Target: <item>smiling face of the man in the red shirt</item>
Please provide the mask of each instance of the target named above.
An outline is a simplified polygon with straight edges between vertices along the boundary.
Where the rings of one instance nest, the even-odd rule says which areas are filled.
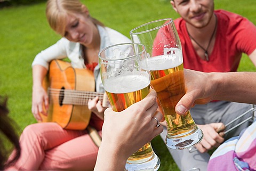
[[[190,25],[203,28],[213,15],[213,0],[173,0],[173,9]]]

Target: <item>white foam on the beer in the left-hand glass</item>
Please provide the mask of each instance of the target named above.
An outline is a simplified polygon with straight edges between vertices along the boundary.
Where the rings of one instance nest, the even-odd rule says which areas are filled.
[[[104,80],[104,89],[109,93],[130,93],[147,87],[150,84],[148,72],[124,74]]]

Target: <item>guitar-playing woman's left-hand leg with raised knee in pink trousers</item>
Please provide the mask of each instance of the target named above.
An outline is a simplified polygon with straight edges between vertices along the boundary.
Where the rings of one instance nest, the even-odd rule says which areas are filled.
[[[84,131],[62,129],[57,123],[28,125],[21,134],[21,156],[14,167],[18,170],[37,170],[45,158],[45,151],[83,134]],[[10,169],[13,170],[13,167]]]

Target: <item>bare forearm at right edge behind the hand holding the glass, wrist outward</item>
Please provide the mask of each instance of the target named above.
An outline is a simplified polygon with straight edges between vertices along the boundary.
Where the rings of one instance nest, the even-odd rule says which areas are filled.
[[[210,78],[213,84],[217,83],[215,100],[256,102],[256,72],[213,72]]]

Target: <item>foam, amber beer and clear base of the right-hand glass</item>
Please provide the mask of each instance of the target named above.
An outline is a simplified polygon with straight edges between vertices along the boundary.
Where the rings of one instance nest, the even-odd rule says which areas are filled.
[[[182,116],[175,112],[176,104],[186,93],[183,61],[179,59],[179,56],[175,59],[175,56],[160,55],[142,62],[145,63],[142,68],[150,70],[150,85],[157,93],[167,124],[166,145],[172,149],[185,149],[203,137],[189,111]]]

